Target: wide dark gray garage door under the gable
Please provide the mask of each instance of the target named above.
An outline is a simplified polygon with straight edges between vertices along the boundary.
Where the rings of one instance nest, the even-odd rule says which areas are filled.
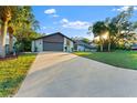
[[[63,51],[63,43],[59,42],[43,42],[44,51]]]

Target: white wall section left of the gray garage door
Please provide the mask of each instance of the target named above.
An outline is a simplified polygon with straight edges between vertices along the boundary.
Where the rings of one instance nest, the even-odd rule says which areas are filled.
[[[43,51],[43,39],[32,41],[32,52]]]

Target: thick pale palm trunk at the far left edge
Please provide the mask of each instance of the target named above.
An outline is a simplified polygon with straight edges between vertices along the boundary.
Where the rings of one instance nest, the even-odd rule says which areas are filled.
[[[6,56],[6,37],[7,37],[8,21],[4,21],[1,25],[1,34],[0,34],[0,56]]]

